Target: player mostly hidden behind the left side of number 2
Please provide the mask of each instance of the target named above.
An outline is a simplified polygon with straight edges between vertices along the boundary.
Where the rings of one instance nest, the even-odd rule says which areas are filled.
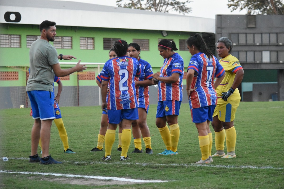
[[[116,53],[114,52],[114,49],[110,49],[110,51],[108,52],[108,56],[109,59],[115,58],[117,57]],[[101,83],[102,83],[102,79],[101,79],[101,74],[98,74],[96,82],[99,86],[99,88],[101,88]],[[98,135],[98,143],[97,143],[97,147],[93,148],[90,150],[90,152],[98,152],[98,151],[103,151],[103,144],[105,142],[105,134],[106,134],[106,129],[107,129],[107,113],[105,111],[103,111],[102,114],[102,118],[101,118],[101,127],[100,127],[100,131],[99,131],[99,135]],[[121,129],[119,128],[118,131],[118,151],[121,151]]]

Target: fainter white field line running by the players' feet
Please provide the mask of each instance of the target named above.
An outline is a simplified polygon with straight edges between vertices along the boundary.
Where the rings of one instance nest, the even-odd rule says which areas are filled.
[[[29,158],[9,158],[9,159],[13,159],[13,160],[29,160]],[[89,164],[128,164],[128,165],[142,165],[142,166],[183,166],[183,167],[189,167],[189,166],[205,166],[205,167],[223,167],[223,168],[248,168],[248,169],[284,169],[284,167],[272,167],[272,166],[265,166],[265,167],[256,167],[256,166],[252,166],[252,165],[240,165],[240,166],[232,166],[232,165],[214,165],[214,162],[211,164],[185,164],[185,163],[171,163],[171,164],[167,164],[167,163],[131,163],[131,162],[72,162],[72,161],[62,161],[65,163],[74,163],[74,164],[78,164],[78,163],[89,163]],[[166,182],[166,181],[165,181]]]

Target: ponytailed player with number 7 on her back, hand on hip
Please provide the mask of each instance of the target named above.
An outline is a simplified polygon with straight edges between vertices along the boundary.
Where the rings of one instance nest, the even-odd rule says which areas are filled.
[[[224,78],[224,69],[217,58],[208,50],[199,34],[187,39],[187,48],[192,55],[186,75],[186,91],[189,100],[192,122],[198,130],[201,159],[196,162],[212,162],[212,133],[209,123],[212,121],[217,104],[215,87]],[[214,77],[216,81],[214,83]],[[213,84],[214,83],[214,84]]]

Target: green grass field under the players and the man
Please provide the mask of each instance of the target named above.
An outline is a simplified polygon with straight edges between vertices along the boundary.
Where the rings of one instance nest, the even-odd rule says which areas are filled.
[[[0,161],[0,188],[284,188],[284,101],[241,102],[235,118],[237,158],[214,158],[214,162],[201,166],[191,165],[201,158],[201,153],[197,129],[191,122],[186,103],[181,105],[178,118],[178,155],[156,155],[165,147],[155,126],[156,105],[151,105],[147,123],[154,154],[131,154],[132,140],[128,151],[131,159],[123,162],[119,161],[120,153],[116,151],[117,134],[110,162],[101,161],[104,152],[90,152],[97,145],[100,107],[62,107],[61,111],[69,146],[77,153],[63,152],[53,123],[50,153],[63,164],[40,165],[28,163],[33,124],[30,109],[0,110],[0,157],[9,158],[7,162]],[[211,131],[214,154],[212,128]],[[143,142],[142,147],[145,150]],[[112,182],[110,178],[101,182],[94,176],[169,182],[131,184],[125,180]]]

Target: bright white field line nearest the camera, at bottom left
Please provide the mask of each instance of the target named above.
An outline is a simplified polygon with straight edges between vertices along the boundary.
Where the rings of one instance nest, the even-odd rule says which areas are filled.
[[[138,179],[125,179],[119,177],[101,177],[101,176],[89,176],[89,175],[71,175],[71,174],[59,174],[59,173],[39,173],[39,172],[17,172],[17,171],[2,171],[0,173],[18,173],[18,174],[34,174],[34,175],[52,175],[57,177],[82,177],[87,179],[101,179],[101,180],[116,180],[124,182],[169,182],[168,180],[138,180]]]

